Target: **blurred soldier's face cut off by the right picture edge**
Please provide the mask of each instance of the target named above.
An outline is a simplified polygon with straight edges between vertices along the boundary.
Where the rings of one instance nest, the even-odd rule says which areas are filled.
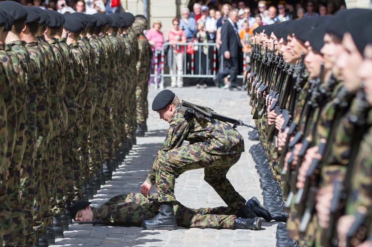
[[[358,70],[358,76],[363,81],[364,92],[368,103],[372,104],[372,45],[367,45],[364,49],[364,60]]]

